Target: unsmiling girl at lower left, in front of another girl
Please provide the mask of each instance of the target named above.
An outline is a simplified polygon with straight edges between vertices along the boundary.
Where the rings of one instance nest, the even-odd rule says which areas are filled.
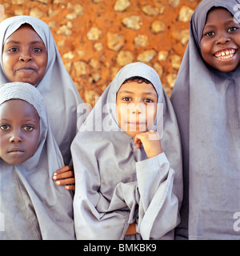
[[[72,197],[54,185],[63,166],[38,90],[0,86],[0,239],[74,239]]]

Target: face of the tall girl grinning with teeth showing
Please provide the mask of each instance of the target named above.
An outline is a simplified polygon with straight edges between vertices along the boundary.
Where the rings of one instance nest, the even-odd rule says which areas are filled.
[[[240,62],[240,26],[223,8],[211,10],[202,31],[202,58],[222,72],[233,71]]]

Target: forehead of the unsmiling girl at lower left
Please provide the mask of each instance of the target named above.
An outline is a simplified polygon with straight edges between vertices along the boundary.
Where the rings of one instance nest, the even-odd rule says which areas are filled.
[[[26,101],[10,99],[0,105],[0,118],[20,119],[26,117],[39,119],[37,110]]]

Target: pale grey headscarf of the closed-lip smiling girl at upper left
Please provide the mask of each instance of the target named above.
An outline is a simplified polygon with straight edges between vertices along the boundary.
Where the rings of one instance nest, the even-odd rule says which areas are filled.
[[[30,16],[15,16],[0,23],[0,85],[11,82],[2,68],[4,42],[25,23],[34,28],[46,46],[48,55],[46,73],[42,80],[34,86],[42,94],[51,129],[62,152],[64,162],[68,164],[70,162],[70,144],[77,133],[77,107],[82,103],[82,99],[62,62],[50,27],[45,22]]]

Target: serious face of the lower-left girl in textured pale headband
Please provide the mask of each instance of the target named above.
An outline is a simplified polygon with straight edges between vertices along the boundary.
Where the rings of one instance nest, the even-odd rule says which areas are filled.
[[[14,99],[0,106],[0,158],[20,165],[38,148],[40,118],[34,106]]]

